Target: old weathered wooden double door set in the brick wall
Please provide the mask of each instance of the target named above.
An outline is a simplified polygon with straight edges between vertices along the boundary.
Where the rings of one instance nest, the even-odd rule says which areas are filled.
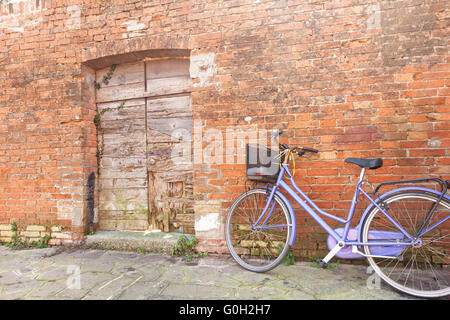
[[[192,233],[189,60],[99,70],[99,224],[103,230]],[[106,79],[106,81],[105,81]]]

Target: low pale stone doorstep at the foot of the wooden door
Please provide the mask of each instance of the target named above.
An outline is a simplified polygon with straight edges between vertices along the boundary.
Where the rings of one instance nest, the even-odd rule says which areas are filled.
[[[170,254],[183,235],[194,237],[175,232],[97,231],[85,237],[84,246],[92,249]]]

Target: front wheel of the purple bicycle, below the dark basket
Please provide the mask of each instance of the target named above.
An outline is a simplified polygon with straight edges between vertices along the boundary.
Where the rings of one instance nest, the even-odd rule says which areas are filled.
[[[264,216],[255,225],[269,195],[270,191],[266,189],[244,192],[227,215],[225,236],[228,249],[240,266],[254,272],[273,269],[289,251],[291,216],[279,196],[274,195]]]

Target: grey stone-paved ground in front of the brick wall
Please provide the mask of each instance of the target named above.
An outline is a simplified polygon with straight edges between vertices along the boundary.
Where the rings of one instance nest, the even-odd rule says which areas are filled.
[[[412,299],[383,283],[377,289],[366,271],[297,262],[259,274],[228,256],[188,263],[162,254],[0,246],[0,299]]]

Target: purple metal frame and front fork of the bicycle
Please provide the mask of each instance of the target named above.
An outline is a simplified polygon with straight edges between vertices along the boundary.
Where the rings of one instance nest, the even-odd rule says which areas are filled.
[[[261,215],[259,216],[258,220],[254,223],[253,227],[255,229],[273,229],[273,228],[280,228],[280,227],[287,227],[288,225],[276,225],[276,226],[265,226],[265,223],[268,221],[270,215],[272,214],[274,205],[272,205],[272,208],[270,209],[267,217],[264,219],[263,223],[261,225],[258,225],[259,222],[261,221],[261,219],[264,217],[264,215],[266,214],[267,210],[269,210],[269,206],[272,203],[272,199],[275,195],[275,193],[281,195],[281,193],[278,192],[278,189],[283,189],[285,190],[306,212],[308,212],[308,214],[323,228],[327,231],[327,233],[329,235],[331,235],[337,243],[341,244],[341,246],[392,246],[392,242],[389,241],[371,241],[371,242],[362,242],[360,240],[357,241],[348,241],[347,240],[347,236],[349,234],[350,231],[350,225],[353,219],[353,215],[355,213],[355,209],[356,209],[356,203],[358,201],[358,198],[360,196],[360,194],[362,193],[371,203],[371,205],[369,206],[375,206],[378,210],[380,210],[386,217],[387,219],[389,219],[397,228],[398,231],[401,232],[405,238],[407,239],[406,241],[399,241],[396,242],[395,245],[396,246],[400,246],[400,245],[404,245],[404,246],[409,246],[409,245],[413,245],[415,243],[415,239],[412,235],[410,235],[406,230],[404,230],[396,221],[395,219],[393,219],[376,201],[374,201],[362,188],[362,178],[364,175],[365,169],[362,169],[361,171],[361,175],[360,175],[360,179],[356,185],[356,189],[355,189],[355,193],[353,196],[353,200],[347,215],[347,219],[342,219],[339,217],[336,217],[332,214],[329,214],[323,210],[321,210],[315,203],[314,201],[312,201],[295,183],[293,176],[291,174],[291,172],[289,171],[289,168],[286,164],[282,164],[282,167],[280,169],[276,184],[273,188],[269,188],[268,190],[270,191],[270,196],[269,199],[266,203],[265,208],[263,209]],[[288,177],[290,179],[290,182],[292,184],[292,186],[294,187],[295,190],[293,190],[285,181],[283,181],[284,175],[285,173],[288,174]],[[423,189],[423,188],[420,188]],[[423,189],[423,190],[428,190],[428,189]],[[283,197],[284,200],[286,200],[285,202],[287,202],[287,205],[290,204],[287,201],[287,199],[285,197]],[[447,198],[447,197],[446,197]],[[290,207],[290,209],[292,209],[292,207]],[[293,210],[291,210],[291,212],[293,212]],[[326,216],[328,218],[331,218],[335,221],[338,221],[340,223],[344,224],[344,232],[341,235],[339,235],[334,229],[332,229],[323,219],[320,215]],[[291,222],[291,225],[293,225],[294,227],[296,226],[296,221],[295,221],[295,216],[291,213],[292,219],[293,221]],[[432,228],[436,227],[437,225],[443,223],[444,221],[446,221],[448,219],[444,218],[442,221],[436,223],[435,225],[431,226],[430,228],[428,228],[425,232],[431,230]],[[291,226],[289,225],[289,226]],[[361,224],[358,225],[358,228],[361,227]],[[423,232],[422,234],[424,234],[425,232]],[[295,242],[295,228],[294,228],[294,234],[291,235],[291,239],[289,241],[289,245],[292,246]],[[360,237],[358,236],[358,239]]]

